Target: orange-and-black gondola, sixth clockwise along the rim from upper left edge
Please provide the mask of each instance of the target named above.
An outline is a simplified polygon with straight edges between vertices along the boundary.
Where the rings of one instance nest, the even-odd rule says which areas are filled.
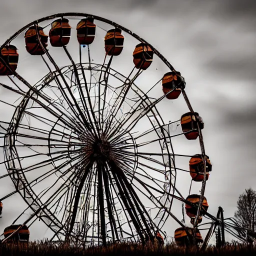
[[[153,50],[146,43],[139,43],[133,51],[133,63],[136,68],[146,70],[153,61]]]

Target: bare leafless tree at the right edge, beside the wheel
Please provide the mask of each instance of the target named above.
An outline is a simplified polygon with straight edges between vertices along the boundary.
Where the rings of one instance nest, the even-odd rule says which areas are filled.
[[[237,229],[239,235],[246,237],[246,241],[251,243],[250,234],[256,231],[256,191],[252,188],[245,189],[239,195],[234,219],[240,227]]]

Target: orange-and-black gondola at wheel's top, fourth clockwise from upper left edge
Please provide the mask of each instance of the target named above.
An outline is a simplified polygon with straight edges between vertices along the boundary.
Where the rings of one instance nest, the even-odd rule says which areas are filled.
[[[91,44],[95,37],[96,25],[92,17],[81,19],[76,25],[76,36],[79,44]]]

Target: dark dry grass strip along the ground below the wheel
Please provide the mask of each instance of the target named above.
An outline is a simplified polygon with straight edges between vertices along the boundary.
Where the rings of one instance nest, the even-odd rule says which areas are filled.
[[[222,248],[208,246],[205,251],[198,251],[196,248],[178,248],[174,244],[167,244],[159,247],[156,244],[142,246],[139,243],[120,243],[109,245],[107,247],[87,247],[77,248],[68,245],[59,245],[47,241],[12,243],[0,245],[1,256],[23,256],[23,255],[41,255],[41,256],[75,256],[75,255],[104,255],[104,256],[135,256],[135,255],[256,255],[255,246],[246,246],[242,244],[227,244]]]

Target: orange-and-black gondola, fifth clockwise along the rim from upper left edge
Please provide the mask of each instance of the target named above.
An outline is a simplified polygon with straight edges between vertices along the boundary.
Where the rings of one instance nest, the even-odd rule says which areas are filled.
[[[104,41],[107,55],[117,56],[121,53],[124,41],[124,36],[121,32],[120,28],[113,28],[106,32]]]

